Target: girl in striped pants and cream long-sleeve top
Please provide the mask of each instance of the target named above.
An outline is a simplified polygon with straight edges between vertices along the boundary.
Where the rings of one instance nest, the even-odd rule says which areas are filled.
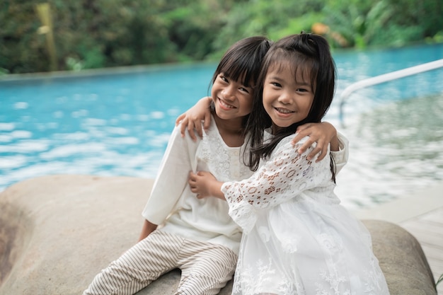
[[[224,54],[212,77],[214,109],[205,137],[193,141],[180,136],[180,127],[173,130],[142,213],[139,243],[97,274],[85,295],[134,294],[174,268],[181,270],[176,294],[218,294],[231,279],[241,228],[226,202],[195,198],[188,173],[205,169],[224,181],[252,175],[242,161],[244,126],[270,44],[265,37],[249,37]],[[325,130],[328,134],[330,129]]]

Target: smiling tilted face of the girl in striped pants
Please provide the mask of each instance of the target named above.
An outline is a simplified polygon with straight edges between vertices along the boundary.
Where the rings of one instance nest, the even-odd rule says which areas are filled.
[[[233,81],[224,73],[217,75],[211,91],[217,116],[224,120],[241,119],[252,108],[253,88]]]

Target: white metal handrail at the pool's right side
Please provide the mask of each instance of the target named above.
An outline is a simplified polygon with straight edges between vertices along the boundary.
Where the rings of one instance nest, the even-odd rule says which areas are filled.
[[[426,64],[420,64],[418,66],[411,66],[410,68],[401,69],[399,71],[391,71],[391,73],[383,74],[379,76],[375,76],[372,78],[364,79],[362,81],[358,81],[355,83],[352,83],[350,86],[347,86],[343,93],[341,94],[340,98],[340,122],[343,123],[343,107],[345,105],[345,102],[347,98],[350,97],[351,93],[354,91],[357,91],[359,89],[368,87],[368,86],[374,86],[376,84],[385,83],[388,81],[392,81],[395,79],[400,79],[405,76],[412,76],[415,74],[420,74],[424,71],[431,71],[433,69],[438,69],[443,67],[443,59],[438,59],[435,62],[427,62]]]

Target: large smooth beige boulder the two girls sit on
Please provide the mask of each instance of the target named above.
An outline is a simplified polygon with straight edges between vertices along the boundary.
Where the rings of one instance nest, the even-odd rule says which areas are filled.
[[[130,248],[152,180],[50,175],[0,193],[0,295],[79,295]],[[391,295],[437,294],[420,245],[400,226],[365,220]],[[173,294],[180,271],[137,295]],[[229,283],[220,294],[231,294]]]

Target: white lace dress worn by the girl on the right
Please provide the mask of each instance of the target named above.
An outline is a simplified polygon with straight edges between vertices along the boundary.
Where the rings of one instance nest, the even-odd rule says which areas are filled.
[[[389,294],[369,232],[333,192],[330,157],[308,161],[291,139],[222,187],[243,228],[233,294]]]

